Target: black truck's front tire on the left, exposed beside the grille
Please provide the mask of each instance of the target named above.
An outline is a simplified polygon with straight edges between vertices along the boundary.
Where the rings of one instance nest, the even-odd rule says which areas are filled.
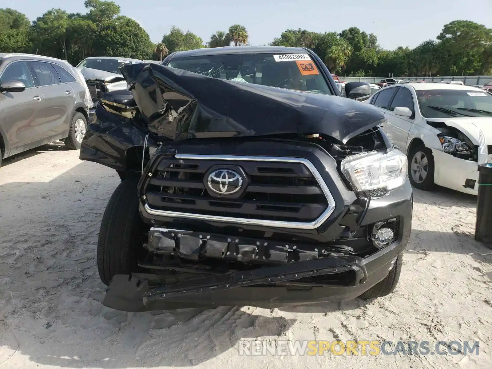
[[[146,255],[143,247],[146,225],[138,210],[137,184],[136,179],[119,184],[102,217],[97,241],[97,269],[106,285],[117,274],[136,272],[138,260]]]

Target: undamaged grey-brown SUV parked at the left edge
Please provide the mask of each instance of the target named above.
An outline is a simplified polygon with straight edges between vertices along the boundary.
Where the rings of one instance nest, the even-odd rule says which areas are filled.
[[[89,90],[68,62],[0,53],[1,158],[62,140],[80,148],[87,129]]]

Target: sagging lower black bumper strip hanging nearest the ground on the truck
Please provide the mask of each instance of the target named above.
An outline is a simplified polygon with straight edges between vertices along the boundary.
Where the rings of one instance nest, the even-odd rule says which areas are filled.
[[[116,275],[103,305],[139,312],[235,305],[269,308],[352,300],[384,279],[401,251],[399,245],[392,245],[365,259],[330,257],[167,285],[155,274]],[[346,279],[349,285],[302,282],[309,277],[346,276],[347,272],[353,276]],[[271,284],[275,282],[277,285]]]

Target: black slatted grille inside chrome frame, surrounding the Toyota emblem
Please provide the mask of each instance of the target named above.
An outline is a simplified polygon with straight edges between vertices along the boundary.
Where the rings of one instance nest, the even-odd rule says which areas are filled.
[[[213,196],[206,189],[210,169],[234,165],[246,174],[239,197]],[[303,163],[242,160],[178,160],[164,157],[144,187],[149,206],[200,215],[311,222],[328,200]]]

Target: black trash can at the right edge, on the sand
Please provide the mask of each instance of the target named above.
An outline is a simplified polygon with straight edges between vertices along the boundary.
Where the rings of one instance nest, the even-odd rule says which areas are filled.
[[[492,164],[480,164],[478,166],[475,240],[492,248]]]

